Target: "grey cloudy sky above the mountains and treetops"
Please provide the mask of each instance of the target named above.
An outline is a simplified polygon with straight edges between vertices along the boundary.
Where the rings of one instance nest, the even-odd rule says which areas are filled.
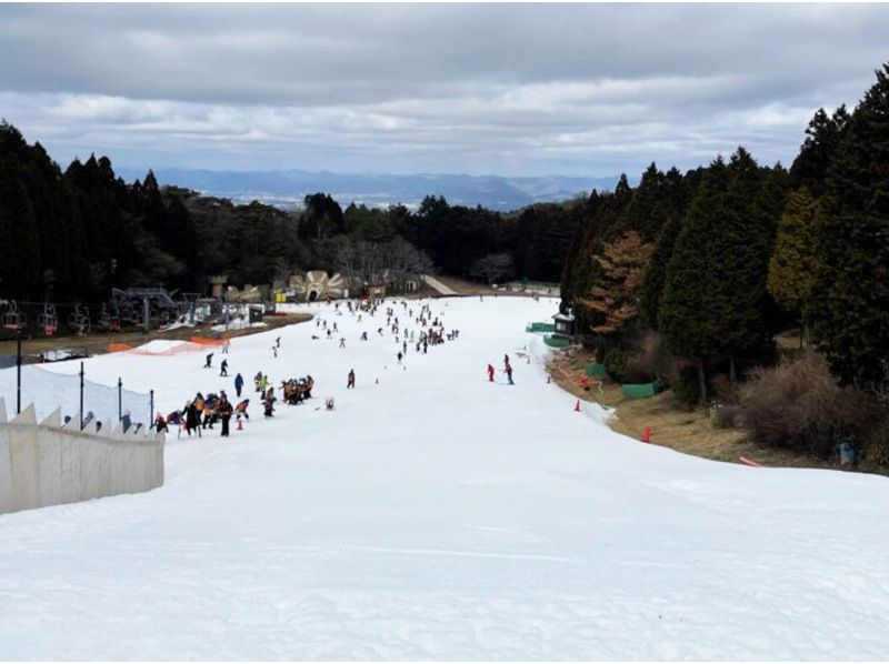
[[[66,165],[638,174],[789,164],[889,6],[0,6],[0,115]]]

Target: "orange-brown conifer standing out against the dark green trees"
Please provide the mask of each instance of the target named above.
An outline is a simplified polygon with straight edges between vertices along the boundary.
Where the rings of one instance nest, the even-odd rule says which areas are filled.
[[[585,298],[578,301],[599,313],[603,322],[592,325],[597,334],[619,334],[632,323],[638,312],[637,291],[642,272],[651,259],[653,247],[643,242],[640,234],[629,231],[607,244],[601,255],[595,255],[602,278]]]

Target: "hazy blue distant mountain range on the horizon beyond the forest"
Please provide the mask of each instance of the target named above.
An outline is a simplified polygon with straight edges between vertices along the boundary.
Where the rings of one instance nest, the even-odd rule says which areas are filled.
[[[142,179],[144,171],[118,169],[128,181]],[[537,202],[563,201],[592,189],[612,190],[618,177],[579,178],[545,175],[393,175],[340,174],[321,171],[204,171],[159,169],[160,184],[194,189],[207,195],[238,203],[258,200],[271,205],[301,205],[306,194],[331,194],[342,207],[351,202],[384,207],[403,203],[416,208],[427,195],[443,195],[452,205],[482,205],[491,210],[516,210]]]

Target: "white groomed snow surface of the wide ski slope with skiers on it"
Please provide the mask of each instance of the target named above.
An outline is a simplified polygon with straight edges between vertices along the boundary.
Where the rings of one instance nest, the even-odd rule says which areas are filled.
[[[0,658],[889,654],[887,479],[620,436],[546,382],[548,350],[525,325],[553,300],[426,302],[460,335],[411,349],[406,370],[393,335],[377,333],[384,310],[359,323],[304,308],[338,324],[331,341],[312,340],[314,321],[233,340],[231,376],[252,384],[263,370],[277,386],[310,373],[314,400],[263,420],[253,399],[228,440],[173,433],[162,489],[0,516]],[[233,394],[202,364],[122,353],[87,372],[153,388],[167,413],[198,390]],[[326,396],[333,412],[319,410]]]

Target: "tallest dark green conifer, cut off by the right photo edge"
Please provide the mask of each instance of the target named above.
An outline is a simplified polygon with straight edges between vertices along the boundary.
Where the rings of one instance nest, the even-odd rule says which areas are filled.
[[[818,224],[812,334],[843,383],[889,388],[889,63],[849,119]]]

